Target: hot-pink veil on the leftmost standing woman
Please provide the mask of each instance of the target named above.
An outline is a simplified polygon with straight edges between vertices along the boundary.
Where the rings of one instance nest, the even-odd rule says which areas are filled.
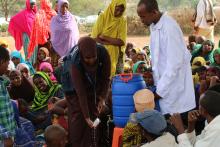
[[[31,29],[36,12],[37,7],[34,6],[34,8],[31,9],[30,0],[26,0],[26,9],[17,13],[10,20],[8,32],[14,37],[17,50],[21,50],[23,46],[23,33],[27,33],[29,37],[31,36]]]

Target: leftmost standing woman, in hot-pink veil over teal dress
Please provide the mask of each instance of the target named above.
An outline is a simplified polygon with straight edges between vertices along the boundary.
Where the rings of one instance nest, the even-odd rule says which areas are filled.
[[[15,39],[15,47],[18,51],[24,48],[25,57],[28,57],[28,44],[30,41],[31,30],[37,13],[36,0],[26,0],[26,9],[17,13],[10,20],[8,32]],[[34,63],[35,56],[29,58],[31,63]]]

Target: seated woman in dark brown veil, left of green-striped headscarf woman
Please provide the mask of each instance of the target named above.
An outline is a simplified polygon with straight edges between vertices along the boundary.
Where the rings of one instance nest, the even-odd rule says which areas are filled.
[[[9,79],[11,81],[8,87],[10,97],[15,100],[24,99],[26,102],[31,103],[35,96],[31,82],[18,70],[12,70]]]

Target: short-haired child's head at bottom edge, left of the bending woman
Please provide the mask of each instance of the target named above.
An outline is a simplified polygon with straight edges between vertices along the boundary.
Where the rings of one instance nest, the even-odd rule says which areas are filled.
[[[65,147],[67,144],[67,132],[59,125],[51,125],[44,133],[46,147]]]

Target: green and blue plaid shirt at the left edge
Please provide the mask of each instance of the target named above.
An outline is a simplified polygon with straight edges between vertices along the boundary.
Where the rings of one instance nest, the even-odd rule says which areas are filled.
[[[4,78],[0,77],[0,140],[14,137],[15,129],[13,106],[4,84]]]

